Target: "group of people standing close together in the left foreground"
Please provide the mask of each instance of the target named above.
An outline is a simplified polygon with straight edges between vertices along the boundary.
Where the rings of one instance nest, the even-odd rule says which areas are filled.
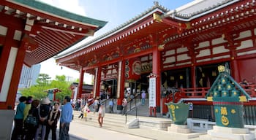
[[[58,122],[60,122],[59,139],[69,139],[69,123],[72,121],[73,110],[70,97],[65,96],[61,109],[59,107],[59,102],[51,103],[49,98],[39,101],[33,100],[31,96],[21,96],[16,107],[11,139],[47,140],[51,131],[51,139],[56,140]]]

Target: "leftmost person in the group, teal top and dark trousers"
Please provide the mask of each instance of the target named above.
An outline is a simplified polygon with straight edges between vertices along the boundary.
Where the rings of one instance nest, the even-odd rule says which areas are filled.
[[[16,108],[16,114],[14,117],[14,128],[12,131],[12,140],[16,140],[16,139],[21,139],[23,133],[22,133],[22,129],[23,129],[23,118],[24,118],[24,109],[25,109],[25,101],[26,101],[26,97],[25,96],[21,96],[19,98],[20,103],[18,104],[17,108]]]

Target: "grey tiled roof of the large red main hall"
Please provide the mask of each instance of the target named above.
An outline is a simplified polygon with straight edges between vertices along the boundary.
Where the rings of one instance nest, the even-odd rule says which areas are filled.
[[[83,44],[77,49],[71,50],[61,55],[57,55],[55,58],[58,60],[61,58],[68,57],[69,55],[72,55],[75,52],[83,50],[86,47],[94,45],[97,42],[100,42],[103,39],[106,39],[112,36],[113,34],[116,34],[118,31],[124,30],[124,28],[128,28],[132,24],[139,22],[142,18],[145,18],[148,15],[152,15],[154,12],[157,12],[157,11],[164,13],[163,16],[165,18],[172,18],[173,20],[180,20],[181,22],[187,22],[195,18],[198,18],[200,16],[206,15],[209,12],[213,12],[217,9],[225,7],[228,4],[233,4],[237,1],[239,0],[214,0],[214,1],[213,0],[195,0],[173,10],[167,9],[166,7],[159,5],[159,3],[155,1],[154,6],[147,9],[145,12],[142,12],[140,15],[136,16],[135,18],[132,18],[126,23],[123,23],[120,26],[113,28],[113,30],[110,30],[105,34],[102,34],[101,36],[95,39],[92,39],[91,41],[87,42],[86,44]]]

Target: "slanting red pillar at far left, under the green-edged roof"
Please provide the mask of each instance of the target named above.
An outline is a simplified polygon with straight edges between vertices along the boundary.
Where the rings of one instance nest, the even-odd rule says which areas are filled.
[[[25,42],[21,42],[20,47],[18,48],[18,52],[15,59],[15,65],[12,72],[12,79],[10,82],[10,88],[8,92],[8,100],[7,100],[7,106],[12,106],[12,109],[14,109],[15,104],[15,98],[18,90],[18,84],[20,82],[20,74],[23,67],[23,61],[26,55],[26,44]]]

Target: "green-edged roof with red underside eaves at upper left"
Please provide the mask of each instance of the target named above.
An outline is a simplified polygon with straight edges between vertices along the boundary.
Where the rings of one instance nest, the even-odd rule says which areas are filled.
[[[21,33],[18,41],[25,42],[24,63],[28,66],[45,61],[81,39],[93,36],[107,23],[34,0],[2,0],[0,16],[8,18],[1,20],[1,26],[15,28]],[[10,23],[15,23],[15,27]]]

